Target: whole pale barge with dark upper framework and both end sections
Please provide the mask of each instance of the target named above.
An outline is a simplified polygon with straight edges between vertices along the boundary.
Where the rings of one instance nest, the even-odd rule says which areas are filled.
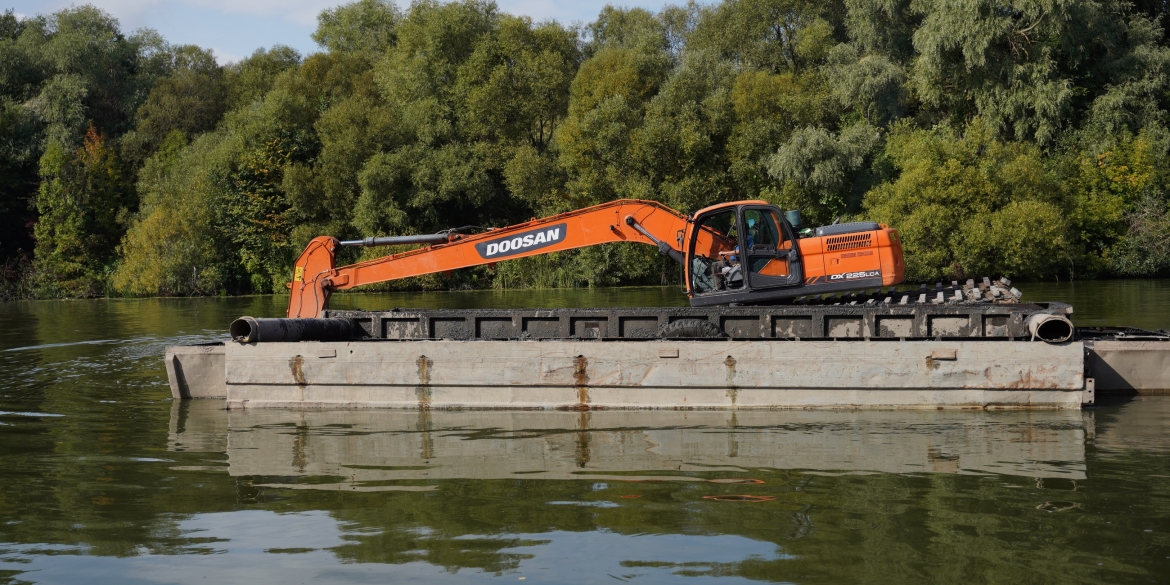
[[[1093,404],[1096,391],[1170,387],[1170,336],[1081,335],[1069,312],[1060,303],[331,311],[352,338],[266,342],[273,333],[257,319],[241,319],[233,335],[245,343],[168,347],[166,366],[174,398],[225,398],[232,410],[1065,410]],[[1049,318],[1067,324],[1047,331],[1053,343],[1037,338]],[[710,337],[663,337],[688,323]]]

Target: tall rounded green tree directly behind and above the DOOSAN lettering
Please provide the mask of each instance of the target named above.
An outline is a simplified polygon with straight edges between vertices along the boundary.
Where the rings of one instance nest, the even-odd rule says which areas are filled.
[[[420,2],[398,39],[376,80],[400,112],[402,143],[366,163],[355,226],[402,233],[531,214],[505,174],[521,185],[548,170],[577,69],[573,34],[494,5]]]

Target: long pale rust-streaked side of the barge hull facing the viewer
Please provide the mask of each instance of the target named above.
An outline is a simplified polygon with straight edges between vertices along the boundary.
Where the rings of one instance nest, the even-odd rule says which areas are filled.
[[[1080,408],[1082,343],[303,342],[223,346],[229,408]]]

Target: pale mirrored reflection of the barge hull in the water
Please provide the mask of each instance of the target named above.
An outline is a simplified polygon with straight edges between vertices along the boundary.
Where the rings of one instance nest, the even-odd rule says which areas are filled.
[[[1092,413],[893,411],[228,411],[176,404],[172,450],[226,452],[233,476],[704,481],[758,469],[1085,479]],[[344,479],[344,481],[342,481]],[[275,479],[271,481],[276,481]]]

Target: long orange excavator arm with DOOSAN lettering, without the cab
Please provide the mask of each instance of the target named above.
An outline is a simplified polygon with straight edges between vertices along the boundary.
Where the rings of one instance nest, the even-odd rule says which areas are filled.
[[[335,290],[599,243],[639,242],[658,246],[660,252],[682,262],[683,255],[675,246],[682,247],[686,228],[687,218],[662,204],[621,199],[474,235],[439,233],[346,242],[331,236],[318,236],[309,242],[296,260],[292,282],[289,283],[291,296],[288,316],[321,317],[329,308],[329,296]],[[356,264],[335,266],[338,247],[391,243],[434,246]]]

